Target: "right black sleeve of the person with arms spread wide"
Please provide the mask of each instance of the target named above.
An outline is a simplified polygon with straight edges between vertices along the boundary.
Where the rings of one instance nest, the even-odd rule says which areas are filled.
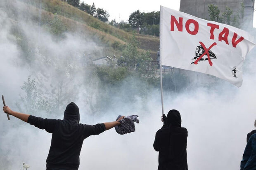
[[[99,135],[106,130],[104,123],[98,123],[96,125],[83,125],[84,132],[83,138],[89,137],[90,135]]]

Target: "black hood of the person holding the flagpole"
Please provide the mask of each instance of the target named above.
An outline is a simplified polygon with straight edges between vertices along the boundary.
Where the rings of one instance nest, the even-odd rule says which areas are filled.
[[[178,110],[172,109],[168,112],[166,124],[172,128],[181,128],[181,117]]]

